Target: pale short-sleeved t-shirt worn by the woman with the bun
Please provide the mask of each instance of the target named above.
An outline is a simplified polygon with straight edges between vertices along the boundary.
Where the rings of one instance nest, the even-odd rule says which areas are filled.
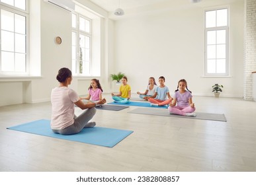
[[[52,129],[64,129],[74,122],[74,102],[79,100],[77,92],[68,87],[52,89]]]

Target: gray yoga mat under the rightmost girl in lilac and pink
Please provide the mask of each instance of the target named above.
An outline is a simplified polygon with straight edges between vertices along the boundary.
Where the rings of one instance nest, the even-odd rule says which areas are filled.
[[[128,113],[132,114],[147,114],[147,115],[154,115],[154,116],[168,116],[168,117],[175,117],[175,118],[189,118],[189,119],[198,119],[198,120],[213,120],[213,121],[220,121],[226,122],[226,117],[224,114],[214,114],[214,113],[206,113],[206,112],[195,112],[196,116],[180,116],[177,114],[169,114],[168,110],[159,109],[159,108],[136,108],[131,110]]]

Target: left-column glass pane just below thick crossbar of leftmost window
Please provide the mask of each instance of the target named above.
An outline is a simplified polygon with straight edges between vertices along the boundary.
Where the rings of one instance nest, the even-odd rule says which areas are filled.
[[[1,10],[1,29],[14,32],[14,13]]]

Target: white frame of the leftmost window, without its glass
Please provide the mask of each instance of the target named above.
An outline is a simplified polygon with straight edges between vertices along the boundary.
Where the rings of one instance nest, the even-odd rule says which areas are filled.
[[[26,2],[26,10],[22,10],[22,9],[19,9],[17,7],[14,7],[14,6],[11,6],[11,5],[8,5],[6,3],[2,3],[0,1],[0,10],[3,9],[4,11],[9,11],[11,13],[14,13],[15,15],[21,15],[21,16],[24,16],[26,17],[26,33],[25,33],[25,36],[26,36],[26,40],[25,40],[25,55],[26,55],[26,59],[25,59],[25,71],[22,72],[22,71],[2,71],[2,62],[1,62],[1,56],[2,56],[2,52],[1,52],[1,44],[0,44],[0,77],[1,76],[20,76],[20,75],[23,75],[23,76],[28,76],[29,75],[29,14],[28,14],[28,0],[25,0]],[[0,15],[0,20],[1,20],[1,15]],[[1,41],[1,24],[0,24],[0,41]],[[16,52],[13,52],[14,54]]]

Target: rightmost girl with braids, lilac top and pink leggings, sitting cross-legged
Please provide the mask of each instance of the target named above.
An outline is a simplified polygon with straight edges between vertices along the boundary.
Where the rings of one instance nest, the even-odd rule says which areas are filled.
[[[187,89],[187,91],[186,91]],[[177,103],[177,106],[176,106]],[[194,103],[192,102],[192,94],[187,87],[187,81],[181,79],[178,83],[177,90],[173,96],[173,102],[169,104],[168,110],[170,114],[179,114],[182,116],[196,116]]]

